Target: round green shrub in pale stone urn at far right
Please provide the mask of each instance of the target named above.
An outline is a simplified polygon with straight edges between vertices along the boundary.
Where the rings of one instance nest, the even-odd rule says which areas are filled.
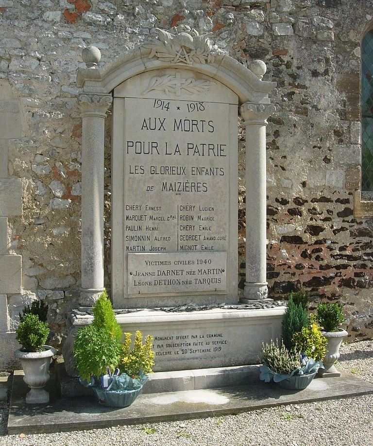
[[[327,339],[326,353],[322,360],[324,369],[319,370],[319,375],[322,377],[340,376],[334,364],[339,359],[342,340],[348,336],[347,331],[339,327],[345,321],[342,305],[331,302],[319,303],[317,319],[322,326],[322,335]]]

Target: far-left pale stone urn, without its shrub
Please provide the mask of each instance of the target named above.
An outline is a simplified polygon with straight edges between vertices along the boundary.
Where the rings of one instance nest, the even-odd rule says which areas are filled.
[[[51,358],[56,355],[57,350],[49,345],[42,345],[41,352],[22,352],[17,350],[15,356],[20,360],[25,376],[23,380],[30,387],[26,395],[27,404],[49,403],[49,392],[44,387],[49,376],[49,365]]]

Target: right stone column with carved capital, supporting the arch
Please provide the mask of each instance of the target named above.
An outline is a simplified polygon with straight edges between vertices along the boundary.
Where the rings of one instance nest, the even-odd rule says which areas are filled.
[[[240,107],[246,130],[246,281],[242,303],[267,299],[266,125],[271,104]]]

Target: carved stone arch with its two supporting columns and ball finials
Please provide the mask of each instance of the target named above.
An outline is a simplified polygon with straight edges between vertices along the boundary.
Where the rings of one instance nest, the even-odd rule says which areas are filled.
[[[80,69],[77,85],[83,117],[82,137],[82,293],[81,305],[90,306],[103,288],[103,130],[111,92],[138,74],[185,68],[208,76],[238,96],[246,128],[246,282],[243,302],[267,297],[266,282],[266,124],[276,109],[270,104],[273,82],[262,81],[266,66],[254,61],[252,71],[213,46],[207,35],[182,25],[158,31],[151,44],[124,54],[100,70],[100,52],[88,47],[87,68]]]

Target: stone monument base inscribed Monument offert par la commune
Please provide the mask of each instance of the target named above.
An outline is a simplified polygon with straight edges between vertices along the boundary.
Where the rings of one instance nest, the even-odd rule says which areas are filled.
[[[188,312],[117,310],[116,317],[123,333],[140,330],[143,336],[153,337],[154,372],[172,372],[257,364],[262,342],[281,338],[286,307],[272,305],[247,309],[247,305],[236,304],[227,305],[233,307],[229,309]],[[78,375],[72,356],[74,335],[92,320],[92,315],[79,312],[69,316],[63,356],[70,376]]]

